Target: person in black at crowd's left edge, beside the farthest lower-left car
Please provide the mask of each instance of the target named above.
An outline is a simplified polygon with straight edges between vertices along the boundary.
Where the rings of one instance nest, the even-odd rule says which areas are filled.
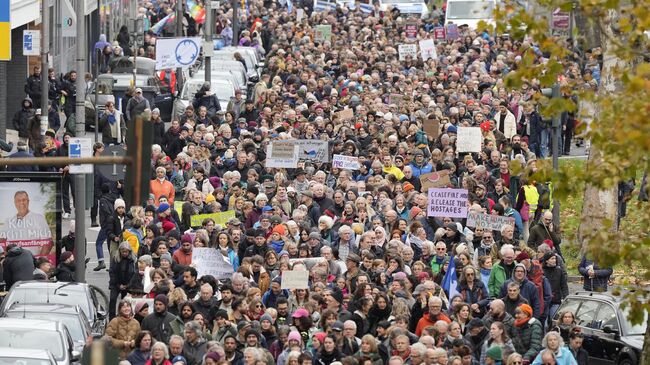
[[[108,305],[108,317],[115,317],[115,304],[119,295],[124,298],[129,282],[136,273],[135,256],[128,242],[120,243],[118,254],[111,258],[111,268],[108,271],[109,281],[108,289],[110,290],[110,301]]]

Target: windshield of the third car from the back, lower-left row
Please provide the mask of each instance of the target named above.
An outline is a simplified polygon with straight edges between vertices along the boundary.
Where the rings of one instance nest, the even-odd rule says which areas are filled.
[[[65,354],[61,335],[55,331],[1,328],[0,347],[50,350],[57,360],[63,360]]]

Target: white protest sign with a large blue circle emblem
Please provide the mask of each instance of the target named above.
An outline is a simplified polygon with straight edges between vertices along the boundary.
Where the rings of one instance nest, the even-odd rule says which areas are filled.
[[[194,38],[158,38],[156,40],[156,70],[188,68],[201,53],[203,41]]]

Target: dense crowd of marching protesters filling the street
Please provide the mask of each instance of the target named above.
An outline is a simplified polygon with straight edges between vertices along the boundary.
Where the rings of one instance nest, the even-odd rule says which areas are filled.
[[[173,9],[163,5],[147,2],[141,13],[153,24]],[[217,34],[232,34],[229,6],[217,11]],[[461,26],[457,39],[436,41],[436,58],[400,61],[407,19],[418,39],[432,38],[439,11],[415,19],[306,8],[297,20],[274,2],[246,6],[234,36],[265,56],[250,93],[238,90],[226,110],[190,105],[169,127],[151,111],[145,206],[126,206],[125,187],[95,172],[95,271],[108,270],[106,339],[123,363],[587,364],[574,314],[556,315],[567,267],[553,188],[535,175],[551,142],[539,83],[504,85],[525,52],[544,62],[535,44]],[[331,39],[315,38],[322,24]],[[146,38],[145,56],[155,53],[155,35]],[[128,38],[117,42],[100,49],[127,54]],[[565,60],[565,77],[596,88],[599,57]],[[352,118],[341,117],[345,108]],[[568,153],[577,118],[562,122]],[[463,127],[480,128],[480,152],[457,151]],[[327,141],[330,163],[266,167],[269,143],[291,139]],[[333,167],[334,154],[357,157],[358,170]],[[433,172],[468,191],[470,213],[514,224],[429,216]],[[191,219],[221,212],[234,218]],[[220,252],[233,273],[199,277],[196,248]],[[70,249],[59,266],[73,270]],[[611,269],[585,257],[579,270],[586,290],[607,289]],[[287,271],[308,271],[308,288],[283,289]]]

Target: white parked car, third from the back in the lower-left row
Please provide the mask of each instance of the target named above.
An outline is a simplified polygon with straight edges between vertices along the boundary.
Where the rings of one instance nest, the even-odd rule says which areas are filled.
[[[70,332],[63,323],[55,321],[0,318],[0,347],[48,350],[58,365],[77,364],[81,360]]]

